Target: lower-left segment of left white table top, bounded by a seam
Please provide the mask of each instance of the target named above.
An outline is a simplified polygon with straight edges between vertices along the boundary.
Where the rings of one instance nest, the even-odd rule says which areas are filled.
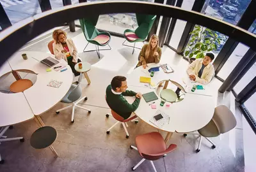
[[[22,92],[5,94],[0,92],[0,127],[24,122],[34,117]]]

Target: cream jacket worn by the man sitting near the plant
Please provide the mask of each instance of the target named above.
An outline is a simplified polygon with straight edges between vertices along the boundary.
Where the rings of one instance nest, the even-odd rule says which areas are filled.
[[[208,64],[207,66],[205,66],[202,76],[201,76],[201,78],[199,78],[198,72],[202,68],[203,61],[204,61],[204,59],[196,59],[195,61],[193,61],[191,64],[189,64],[187,73],[188,73],[188,75],[196,76],[195,82],[207,84],[207,83],[211,82],[212,77],[215,74],[214,67],[211,63]]]

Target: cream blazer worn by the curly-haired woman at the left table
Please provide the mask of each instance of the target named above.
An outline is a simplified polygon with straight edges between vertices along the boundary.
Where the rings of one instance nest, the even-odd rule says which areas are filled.
[[[67,39],[66,42],[67,42],[67,46],[68,46],[70,55],[72,55],[72,57],[73,57],[72,62],[77,62],[77,59],[81,60],[79,55],[77,55],[77,49],[76,49],[76,46],[75,46],[74,42],[72,41],[72,39]],[[67,57],[66,57],[65,53],[61,52],[61,50],[64,50],[61,43],[54,42],[52,45],[53,45],[53,52],[54,52],[56,59],[58,59],[58,60],[64,59],[65,61],[67,61]]]

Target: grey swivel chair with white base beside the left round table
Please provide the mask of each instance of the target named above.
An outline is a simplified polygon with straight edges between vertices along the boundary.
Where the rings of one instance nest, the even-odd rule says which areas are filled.
[[[72,103],[72,104],[70,104],[69,106],[67,106],[65,108],[61,108],[60,110],[56,110],[56,113],[59,114],[60,111],[66,110],[68,108],[72,108],[71,122],[74,122],[74,113],[75,113],[76,107],[82,108],[83,110],[87,110],[88,113],[91,113],[91,110],[77,105],[81,101],[88,99],[86,96],[79,99],[82,95],[82,89],[80,86],[82,78],[83,78],[83,73],[80,73],[79,78],[78,78],[78,84],[77,85],[72,84],[70,89],[68,90],[67,94],[65,95],[65,97],[63,97],[63,99],[61,100],[62,103]]]

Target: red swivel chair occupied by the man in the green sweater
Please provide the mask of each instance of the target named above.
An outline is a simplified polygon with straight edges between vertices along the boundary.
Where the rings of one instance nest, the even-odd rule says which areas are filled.
[[[105,99],[106,99],[106,96],[105,96]],[[108,104],[108,103],[107,103]],[[109,107],[110,108],[110,107]],[[112,115],[111,115],[112,114]],[[122,123],[122,125],[123,125],[123,127],[124,127],[124,130],[125,130],[125,133],[126,133],[126,138],[129,138],[129,133],[128,133],[128,131],[127,131],[127,128],[126,127],[128,127],[128,125],[126,124],[126,122],[129,122],[129,121],[135,121],[135,124],[137,124],[138,123],[138,119],[136,119],[136,118],[138,118],[136,115],[135,116],[133,116],[133,117],[131,117],[131,118],[127,118],[127,119],[124,119],[123,117],[121,117],[120,115],[118,115],[115,111],[113,111],[113,110],[111,110],[111,114],[110,113],[107,113],[107,115],[106,115],[106,117],[108,118],[109,117],[109,115],[110,116],[112,116],[112,117],[114,117],[116,120],[117,120],[117,122],[114,124],[114,125],[112,125],[112,127],[110,127],[108,130],[107,130],[107,134],[109,134],[110,133],[110,130],[113,128],[113,127],[115,127],[115,125],[117,125],[117,124],[119,124],[120,122]]]

